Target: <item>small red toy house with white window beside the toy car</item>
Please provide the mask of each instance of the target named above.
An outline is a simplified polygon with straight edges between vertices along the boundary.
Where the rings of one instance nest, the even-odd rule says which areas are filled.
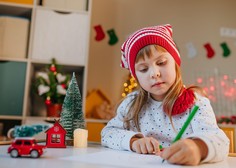
[[[55,120],[53,127],[46,132],[46,146],[47,148],[66,148],[66,130],[59,124],[59,120]]]

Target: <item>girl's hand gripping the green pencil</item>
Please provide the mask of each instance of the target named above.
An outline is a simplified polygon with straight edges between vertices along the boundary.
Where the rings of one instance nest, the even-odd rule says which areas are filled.
[[[173,164],[198,165],[208,153],[206,144],[200,139],[183,139],[172,144],[160,156]]]

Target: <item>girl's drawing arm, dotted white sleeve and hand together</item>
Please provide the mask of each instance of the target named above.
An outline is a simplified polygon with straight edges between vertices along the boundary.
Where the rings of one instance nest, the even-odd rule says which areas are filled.
[[[165,148],[161,157],[170,163],[198,165],[224,160],[229,151],[229,140],[218,127],[210,102],[197,95],[199,110],[190,123],[193,133]]]

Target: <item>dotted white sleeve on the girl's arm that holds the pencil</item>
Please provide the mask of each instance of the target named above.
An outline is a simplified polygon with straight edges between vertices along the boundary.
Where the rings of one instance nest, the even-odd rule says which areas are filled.
[[[224,160],[229,152],[229,139],[218,127],[209,99],[197,95],[196,105],[199,106],[199,110],[191,123],[191,137],[200,138],[208,147],[208,155],[202,162]]]

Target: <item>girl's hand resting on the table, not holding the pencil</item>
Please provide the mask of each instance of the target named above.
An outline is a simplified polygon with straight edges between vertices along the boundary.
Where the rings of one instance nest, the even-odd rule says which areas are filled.
[[[131,149],[140,154],[160,154],[159,143],[153,137],[136,138],[130,140]]]

